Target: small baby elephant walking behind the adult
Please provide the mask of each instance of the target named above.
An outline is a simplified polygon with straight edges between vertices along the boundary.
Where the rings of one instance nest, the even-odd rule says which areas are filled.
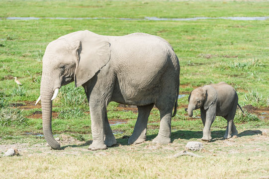
[[[190,92],[188,96],[188,108],[185,111],[192,116],[194,109],[200,108],[203,121],[203,141],[212,139],[210,127],[216,116],[222,116],[227,120],[227,129],[224,135],[225,139],[237,135],[238,132],[234,125],[234,116],[238,104],[238,96],[233,87],[220,82],[218,84],[205,85]],[[240,107],[242,110],[242,108]],[[243,110],[242,110],[243,112]]]

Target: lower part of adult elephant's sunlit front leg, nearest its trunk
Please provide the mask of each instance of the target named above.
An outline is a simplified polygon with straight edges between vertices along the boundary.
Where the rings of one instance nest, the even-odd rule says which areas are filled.
[[[92,143],[89,150],[106,149],[104,144],[104,118],[106,108],[100,104],[90,103]]]

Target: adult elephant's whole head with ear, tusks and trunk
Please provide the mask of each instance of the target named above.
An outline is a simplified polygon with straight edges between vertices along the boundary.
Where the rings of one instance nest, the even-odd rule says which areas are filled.
[[[51,129],[52,100],[63,85],[75,81],[79,87],[89,81],[110,60],[110,44],[105,36],[88,30],[67,34],[52,41],[43,57],[40,97],[43,133],[53,149],[60,149]]]

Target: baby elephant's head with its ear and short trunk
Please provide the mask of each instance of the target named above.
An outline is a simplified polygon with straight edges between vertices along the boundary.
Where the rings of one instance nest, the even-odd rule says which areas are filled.
[[[209,86],[199,87],[190,92],[188,96],[188,108],[185,108],[185,111],[188,112],[188,115],[192,117],[192,111],[203,107],[205,110],[215,102],[217,99],[217,91]]]

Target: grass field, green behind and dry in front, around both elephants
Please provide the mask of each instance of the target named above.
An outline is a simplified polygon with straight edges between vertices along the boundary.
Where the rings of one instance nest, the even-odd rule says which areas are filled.
[[[153,21],[144,17],[269,16],[261,1],[0,1],[0,178],[260,178],[269,176],[269,20],[202,19]],[[109,19],[7,20],[6,17],[111,17]],[[132,18],[136,20],[120,20]],[[172,119],[172,144],[151,140],[159,131],[153,109],[147,141],[127,145],[137,111],[108,105],[108,119],[118,144],[88,151],[90,115],[83,88],[60,89],[53,102],[52,129],[61,151],[50,150],[42,136],[39,96],[42,57],[49,42],[78,30],[102,35],[144,32],[173,46],[180,63],[179,94],[224,81],[239,95],[237,138],[223,140],[227,122],[217,117],[211,142],[194,152],[203,158],[171,156],[202,137],[200,112],[188,117],[187,95]],[[18,86],[13,77],[22,83]],[[65,95],[64,95],[65,93]],[[41,134],[41,135],[40,135]],[[2,157],[10,147],[21,156]],[[64,164],[64,165],[63,165]]]

